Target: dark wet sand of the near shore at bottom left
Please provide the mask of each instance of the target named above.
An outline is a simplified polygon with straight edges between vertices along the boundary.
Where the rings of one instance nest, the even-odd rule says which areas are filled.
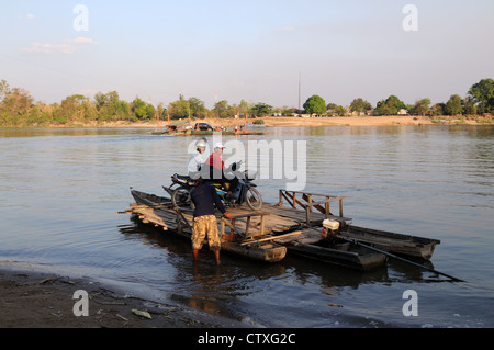
[[[74,313],[76,291],[88,293],[88,316]],[[80,309],[80,307],[76,307]],[[151,319],[133,309],[147,312]],[[242,325],[240,325],[242,326]],[[0,263],[0,328],[220,328],[231,320],[110,290],[86,279]]]

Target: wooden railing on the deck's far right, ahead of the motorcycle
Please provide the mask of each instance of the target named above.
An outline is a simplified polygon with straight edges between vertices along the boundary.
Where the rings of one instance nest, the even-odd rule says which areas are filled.
[[[324,197],[324,200],[315,202],[314,197]],[[346,197],[328,194],[280,190],[280,201],[278,202],[277,206],[283,205],[283,199],[287,200],[287,202],[293,208],[300,206],[305,210],[306,222],[308,224],[311,222],[311,213],[313,212],[313,210],[316,210],[317,212],[326,215],[326,218],[329,218],[329,216],[335,216],[330,212],[332,202],[339,202],[339,217],[343,217],[343,200]]]

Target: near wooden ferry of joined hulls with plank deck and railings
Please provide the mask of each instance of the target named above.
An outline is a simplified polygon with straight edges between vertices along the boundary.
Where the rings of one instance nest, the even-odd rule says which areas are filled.
[[[136,203],[132,203],[126,213],[190,239],[193,221],[190,208],[175,207],[168,197],[135,190],[131,193]],[[316,201],[317,196],[323,200]],[[435,239],[353,226],[351,218],[343,216],[343,199],[280,190],[280,202],[276,205],[265,203],[261,212],[252,212],[247,206],[228,207],[232,222],[218,214],[222,250],[266,262],[278,262],[287,253],[293,253],[367,271],[384,264],[386,252],[430,259],[435,246],[440,244]],[[290,206],[284,206],[284,201]],[[329,207],[334,202],[339,202],[337,216]],[[334,235],[324,237],[323,224],[328,219],[339,223],[340,227]]]

